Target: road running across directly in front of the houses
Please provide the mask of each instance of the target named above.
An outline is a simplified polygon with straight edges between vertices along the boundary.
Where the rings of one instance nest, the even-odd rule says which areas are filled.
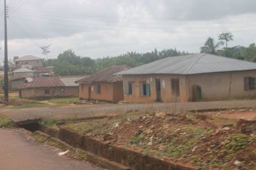
[[[14,121],[35,118],[84,118],[102,115],[116,115],[130,110],[140,111],[188,111],[228,108],[256,108],[256,100],[248,101],[212,101],[198,103],[151,103],[151,104],[101,104],[69,107],[44,107],[26,109],[2,108],[0,114]]]

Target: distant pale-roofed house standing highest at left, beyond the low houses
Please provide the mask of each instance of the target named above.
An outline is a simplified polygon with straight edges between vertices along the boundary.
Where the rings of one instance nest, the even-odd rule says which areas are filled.
[[[43,67],[44,59],[35,57],[33,55],[25,55],[23,57],[13,57],[13,61],[16,67],[22,66],[24,64],[31,65],[33,67]]]

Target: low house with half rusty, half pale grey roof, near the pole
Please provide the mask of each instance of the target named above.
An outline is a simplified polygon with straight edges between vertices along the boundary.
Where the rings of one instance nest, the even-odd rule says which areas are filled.
[[[24,98],[78,97],[79,84],[86,76],[36,77],[19,87],[19,96]]]

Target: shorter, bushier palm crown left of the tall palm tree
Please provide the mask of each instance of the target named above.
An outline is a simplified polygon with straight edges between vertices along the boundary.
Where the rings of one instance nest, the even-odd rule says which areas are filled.
[[[223,41],[220,41],[215,44],[215,41],[213,38],[209,37],[207,41],[205,41],[204,46],[200,48],[201,53],[211,53],[216,54],[216,50],[223,45]]]

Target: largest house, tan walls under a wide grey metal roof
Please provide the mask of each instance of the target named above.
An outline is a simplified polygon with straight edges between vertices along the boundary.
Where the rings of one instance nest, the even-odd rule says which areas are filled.
[[[124,100],[133,103],[256,97],[256,63],[197,53],[122,71]]]

